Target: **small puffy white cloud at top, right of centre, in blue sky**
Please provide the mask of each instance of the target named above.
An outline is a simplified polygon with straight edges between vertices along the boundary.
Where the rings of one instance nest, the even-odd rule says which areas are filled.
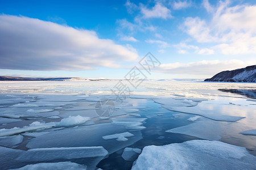
[[[171,11],[160,3],[156,3],[152,9],[141,7],[142,18],[171,18]]]

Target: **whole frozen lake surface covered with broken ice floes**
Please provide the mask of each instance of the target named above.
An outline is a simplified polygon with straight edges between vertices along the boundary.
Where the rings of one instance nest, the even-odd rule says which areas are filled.
[[[151,145],[168,145],[167,156],[184,150],[198,155],[180,156],[180,167],[158,160],[170,169],[204,162],[205,148],[213,155],[222,148],[222,162],[209,157],[222,167],[240,169],[241,161],[256,168],[255,83],[143,81],[134,88],[128,81],[0,82],[0,92],[0,169],[142,169],[163,150]]]

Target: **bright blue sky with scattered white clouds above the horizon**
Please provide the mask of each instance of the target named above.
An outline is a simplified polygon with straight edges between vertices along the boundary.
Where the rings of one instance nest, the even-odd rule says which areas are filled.
[[[209,78],[256,63],[254,1],[0,1],[0,75]]]

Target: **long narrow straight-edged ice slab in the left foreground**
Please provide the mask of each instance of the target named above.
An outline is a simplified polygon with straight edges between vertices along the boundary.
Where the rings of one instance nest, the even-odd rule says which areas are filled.
[[[35,148],[23,152],[16,160],[22,162],[38,162],[56,159],[76,159],[106,156],[108,151],[102,146],[94,147],[51,147]]]

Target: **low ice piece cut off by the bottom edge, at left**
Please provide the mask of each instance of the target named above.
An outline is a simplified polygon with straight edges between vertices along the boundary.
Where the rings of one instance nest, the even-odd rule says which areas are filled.
[[[26,165],[22,168],[18,168],[19,170],[47,170],[47,169],[56,169],[56,170],[61,170],[61,169],[80,169],[80,170],[85,170],[86,165],[81,165],[73,162],[57,162],[57,163],[38,163],[38,164],[30,164]],[[16,169],[16,170],[18,170]]]

